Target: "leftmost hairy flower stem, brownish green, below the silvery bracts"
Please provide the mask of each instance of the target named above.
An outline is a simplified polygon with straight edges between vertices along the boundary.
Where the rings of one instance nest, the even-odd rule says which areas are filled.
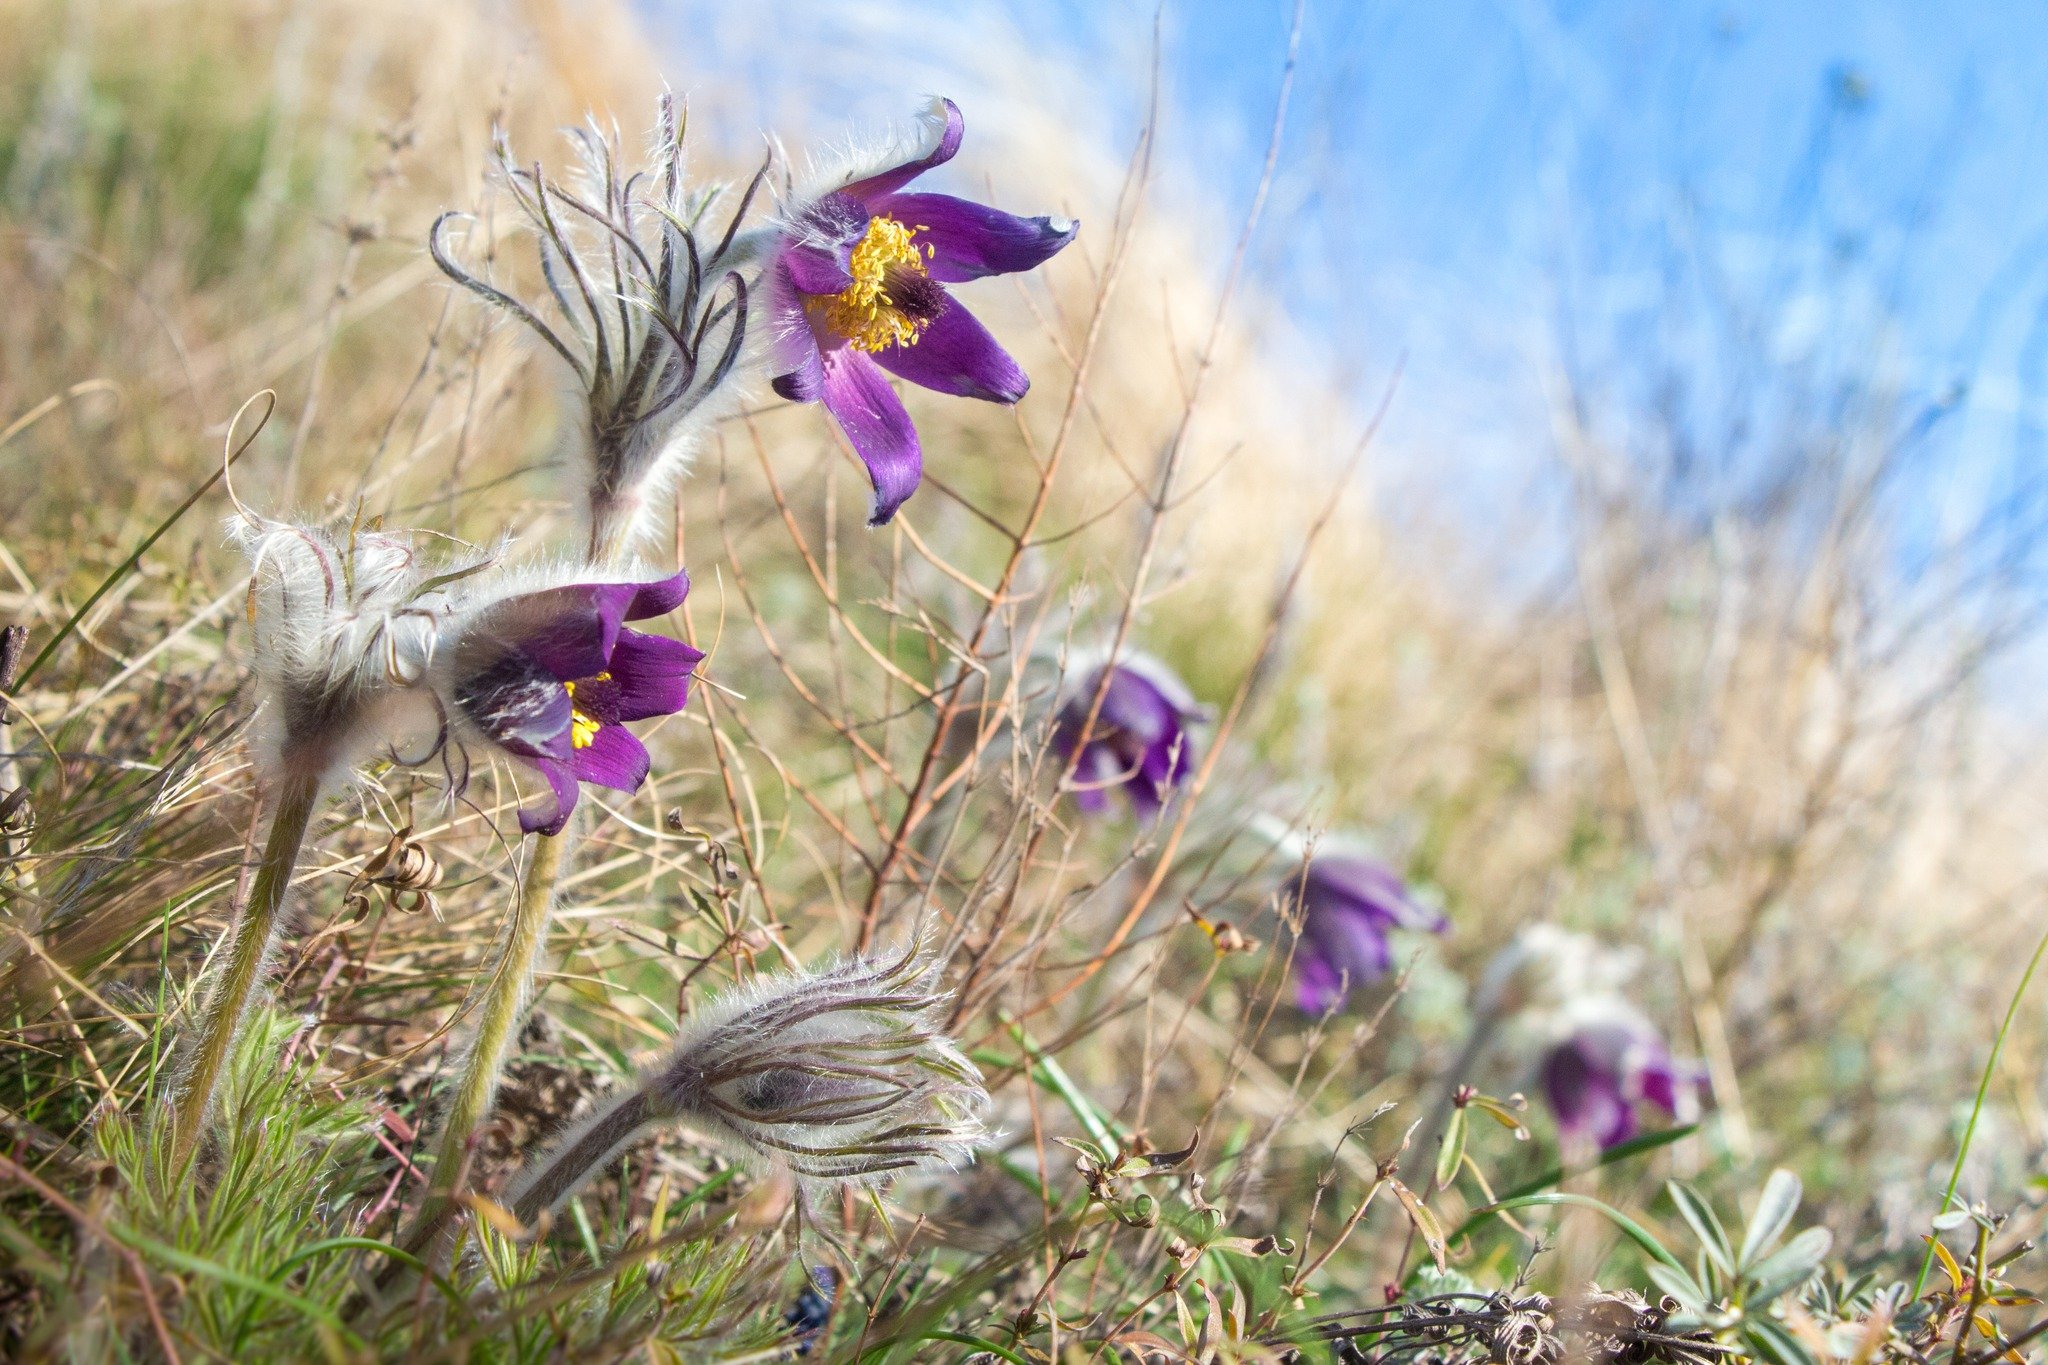
[[[199,1048],[193,1052],[193,1066],[178,1093],[172,1115],[172,1171],[182,1169],[193,1148],[199,1146],[221,1064],[242,1029],[250,999],[256,995],[256,978],[276,939],[279,909],[285,905],[285,890],[291,888],[291,874],[299,866],[299,845],[305,843],[305,827],[313,819],[317,800],[319,780],[311,776],[289,778],[276,792],[270,835],[264,839],[256,882],[250,886],[250,898],[242,907],[236,937],[227,950],[227,972],[207,1001],[199,1025]]]

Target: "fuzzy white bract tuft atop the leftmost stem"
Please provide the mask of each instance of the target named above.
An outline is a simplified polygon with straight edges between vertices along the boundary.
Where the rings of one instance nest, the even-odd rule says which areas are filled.
[[[426,681],[453,614],[446,585],[481,559],[428,575],[410,534],[250,512],[227,532],[250,559],[254,753],[266,776],[326,788],[438,731]]]

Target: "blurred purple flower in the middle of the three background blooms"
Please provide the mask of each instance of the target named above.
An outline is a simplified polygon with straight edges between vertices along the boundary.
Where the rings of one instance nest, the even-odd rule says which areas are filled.
[[[1309,857],[1284,892],[1300,911],[1294,999],[1311,1015],[1335,1009],[1352,986],[1393,968],[1395,929],[1450,931],[1444,913],[1415,900],[1393,868],[1358,853]]]

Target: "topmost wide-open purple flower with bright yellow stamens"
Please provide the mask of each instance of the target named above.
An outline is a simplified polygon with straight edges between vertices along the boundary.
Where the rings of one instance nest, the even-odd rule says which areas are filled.
[[[946,284],[1016,274],[1073,241],[1079,223],[1016,217],[911,180],[961,149],[961,108],[936,100],[924,147],[788,213],[768,270],[774,391],[825,405],[874,481],[868,526],[895,516],[924,477],[924,452],[889,375],[1016,403],[1030,379]]]

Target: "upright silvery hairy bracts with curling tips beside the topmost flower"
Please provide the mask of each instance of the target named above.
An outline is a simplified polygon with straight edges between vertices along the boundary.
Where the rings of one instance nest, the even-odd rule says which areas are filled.
[[[748,362],[748,299],[760,233],[741,233],[768,164],[739,190],[723,225],[713,209],[729,186],[692,186],[684,125],[662,96],[651,156],[623,170],[618,135],[569,129],[569,184],[520,166],[506,139],[498,162],[535,235],[551,303],[528,307],[455,262],[442,213],[428,233],[434,262],[535,332],[569,366],[584,403],[580,489],[590,553],[614,559],[643,538],[705,432],[729,415],[756,368]],[[553,321],[543,317],[549,313]]]

